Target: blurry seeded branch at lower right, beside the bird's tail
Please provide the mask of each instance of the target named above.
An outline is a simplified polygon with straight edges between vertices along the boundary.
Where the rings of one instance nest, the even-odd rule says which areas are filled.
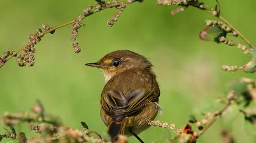
[[[218,121],[218,119],[225,115],[226,111],[233,104],[236,104],[238,107],[240,107],[239,111],[241,111],[241,113],[244,115],[244,122],[247,122],[252,128],[256,128],[256,81],[254,79],[241,78],[230,82],[229,93],[227,93],[226,97],[221,99],[221,101],[225,103],[224,107],[222,107],[219,111],[215,111],[214,113],[206,113],[201,121],[197,121],[193,115],[190,115],[190,119],[188,121],[196,125],[196,130],[193,130],[190,124],[184,125],[182,129],[176,128],[175,124],[168,125],[168,123],[162,123],[160,121],[150,121],[148,124],[162,128],[169,127],[171,130],[173,130],[177,136],[174,136],[174,138],[170,140],[171,142],[178,141],[195,143],[198,138],[204,135],[205,131],[207,131],[216,121]],[[249,105],[253,108],[250,109]],[[249,131],[254,130],[252,128],[249,129]],[[226,134],[226,136],[223,134]],[[223,131],[222,137],[232,141],[232,136],[230,136],[230,134],[227,135],[227,133],[224,133]]]

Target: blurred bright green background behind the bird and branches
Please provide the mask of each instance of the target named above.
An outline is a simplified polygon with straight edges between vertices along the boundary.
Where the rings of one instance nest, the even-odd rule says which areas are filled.
[[[215,1],[204,1],[214,6]],[[220,1],[222,15],[252,42],[255,37],[254,0]],[[76,18],[93,0],[78,1],[0,1],[0,53],[8,48],[16,50],[28,41],[30,33],[41,24],[51,26]],[[194,8],[172,16],[175,6],[156,5],[155,0],[128,5],[118,22],[107,27],[106,22],[116,12],[104,10],[86,18],[87,26],[79,30],[82,52],[73,52],[71,25],[54,35],[46,35],[37,44],[34,67],[18,67],[11,59],[0,68],[0,114],[4,111],[28,111],[40,99],[46,111],[59,115],[65,124],[81,128],[87,122],[91,130],[102,133],[105,125],[99,116],[99,99],[104,77],[96,68],[85,63],[98,61],[106,53],[127,49],[146,56],[152,64],[160,84],[160,121],[182,127],[188,115],[218,106],[215,99],[224,96],[232,79],[256,78],[249,73],[225,72],[221,65],[243,65],[250,56],[235,48],[199,39],[205,19],[211,15]],[[221,128],[233,131],[237,142],[256,142],[256,137],[243,131],[243,115],[230,109],[230,116],[216,122],[199,142],[221,142]],[[200,117],[200,116],[199,116]],[[0,134],[4,133],[0,121]],[[18,131],[26,131],[19,125]],[[29,133],[27,136],[32,136]],[[169,130],[151,127],[140,137],[145,142],[165,142],[174,136]],[[3,142],[10,140],[5,139]],[[133,137],[130,142],[137,142]]]

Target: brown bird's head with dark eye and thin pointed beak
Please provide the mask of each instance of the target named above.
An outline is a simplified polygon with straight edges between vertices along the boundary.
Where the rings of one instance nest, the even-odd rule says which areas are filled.
[[[98,62],[85,64],[99,68],[105,77],[105,82],[118,73],[132,68],[151,70],[152,64],[144,56],[129,50],[118,50],[108,53]]]

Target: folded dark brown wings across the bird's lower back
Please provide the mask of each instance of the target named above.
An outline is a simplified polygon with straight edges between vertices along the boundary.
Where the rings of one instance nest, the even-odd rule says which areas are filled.
[[[133,116],[152,101],[152,91],[143,89],[128,90],[125,95],[121,91],[110,90],[102,96],[102,108],[116,121],[121,121],[126,116]]]

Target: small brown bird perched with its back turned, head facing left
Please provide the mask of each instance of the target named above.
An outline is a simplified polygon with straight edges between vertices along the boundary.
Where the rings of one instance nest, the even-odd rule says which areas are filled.
[[[118,135],[134,135],[143,142],[137,134],[149,127],[160,109],[160,90],[151,62],[129,50],[118,50],[85,65],[104,74],[101,118],[113,141]]]

